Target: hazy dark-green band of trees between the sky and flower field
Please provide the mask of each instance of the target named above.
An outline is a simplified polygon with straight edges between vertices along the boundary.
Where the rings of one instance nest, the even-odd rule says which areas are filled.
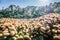
[[[21,8],[10,5],[8,8],[0,10],[0,18],[36,18],[49,13],[60,13],[60,2],[50,3],[46,6],[27,6]]]

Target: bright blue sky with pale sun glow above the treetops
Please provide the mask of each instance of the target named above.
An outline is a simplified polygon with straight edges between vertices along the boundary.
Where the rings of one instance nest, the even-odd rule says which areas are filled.
[[[22,8],[26,6],[43,6],[51,2],[60,2],[60,0],[0,0],[0,8],[6,8],[11,4],[19,5]]]

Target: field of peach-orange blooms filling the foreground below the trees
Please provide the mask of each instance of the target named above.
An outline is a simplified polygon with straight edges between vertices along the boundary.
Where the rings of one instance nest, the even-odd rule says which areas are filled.
[[[34,19],[0,18],[0,40],[60,39],[60,14]]]

